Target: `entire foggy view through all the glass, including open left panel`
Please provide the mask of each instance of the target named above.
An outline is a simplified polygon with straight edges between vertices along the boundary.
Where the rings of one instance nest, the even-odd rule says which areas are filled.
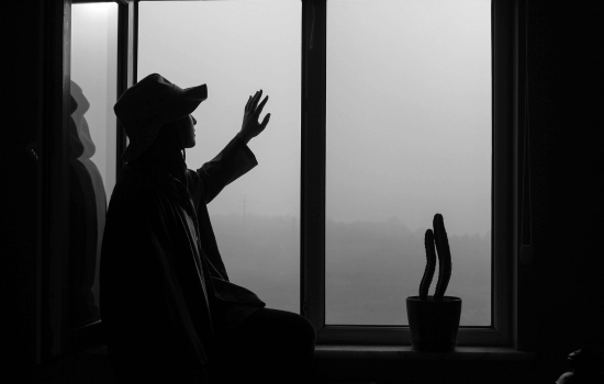
[[[301,1],[139,11],[138,79],[209,86],[189,168],[239,131],[248,95],[270,95],[270,124],[249,145],[259,166],[209,210],[232,281],[297,312]],[[91,104],[92,160],[109,196],[116,4],[76,4],[72,19],[71,75]],[[462,325],[489,325],[490,237],[455,234],[490,230],[490,1],[329,0],[327,32],[327,323],[406,324],[400,298],[416,294],[425,256],[423,233],[402,224],[426,228],[440,212],[454,256],[448,294],[465,300]]]

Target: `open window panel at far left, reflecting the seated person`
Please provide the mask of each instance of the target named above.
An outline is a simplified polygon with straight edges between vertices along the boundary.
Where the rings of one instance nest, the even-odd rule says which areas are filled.
[[[37,361],[102,342],[99,266],[115,184],[121,38],[132,5],[60,1],[45,10]],[[126,36],[127,37],[127,36]]]

